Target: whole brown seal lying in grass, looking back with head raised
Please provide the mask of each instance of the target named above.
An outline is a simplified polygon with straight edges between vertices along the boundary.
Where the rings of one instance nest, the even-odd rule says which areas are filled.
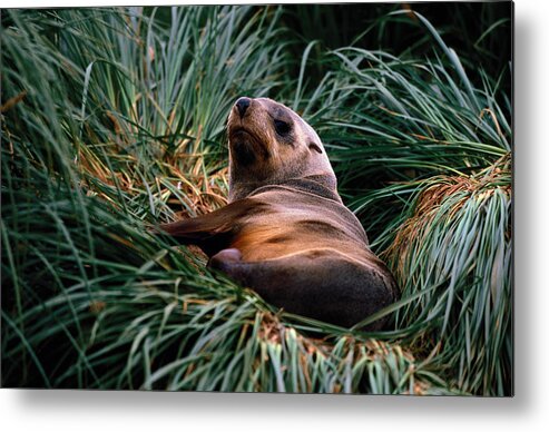
[[[394,302],[394,278],[343,205],[313,128],[282,104],[243,97],[227,132],[228,205],[160,229],[294,314],[349,327]]]

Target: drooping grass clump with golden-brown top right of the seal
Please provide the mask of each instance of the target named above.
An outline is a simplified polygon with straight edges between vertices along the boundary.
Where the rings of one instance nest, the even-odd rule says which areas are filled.
[[[504,157],[472,177],[422,185],[386,256],[403,297],[398,327],[440,344],[449,380],[471,393],[508,394],[512,374],[511,173]]]

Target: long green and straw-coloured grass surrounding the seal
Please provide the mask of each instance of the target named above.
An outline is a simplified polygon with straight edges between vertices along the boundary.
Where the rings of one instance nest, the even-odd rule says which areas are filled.
[[[310,41],[296,61],[285,13],[2,14],[3,385],[511,393],[502,79],[470,79],[419,14],[428,58]],[[225,119],[242,95],[293,105],[320,131],[399,278],[392,328],[276,311],[147,233],[226,203]]]

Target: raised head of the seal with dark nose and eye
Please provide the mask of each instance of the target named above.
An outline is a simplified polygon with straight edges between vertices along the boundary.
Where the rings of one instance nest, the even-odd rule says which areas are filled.
[[[333,190],[336,178],[314,129],[286,106],[239,98],[227,121],[229,203],[265,185],[316,176]]]

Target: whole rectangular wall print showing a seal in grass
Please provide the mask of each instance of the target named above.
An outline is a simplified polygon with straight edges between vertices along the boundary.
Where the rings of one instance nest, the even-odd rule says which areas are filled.
[[[513,14],[3,8],[1,386],[513,396]]]

